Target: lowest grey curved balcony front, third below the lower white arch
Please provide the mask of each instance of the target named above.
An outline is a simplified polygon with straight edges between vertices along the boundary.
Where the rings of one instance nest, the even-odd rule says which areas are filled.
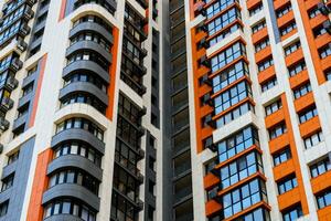
[[[79,185],[56,185],[44,192],[42,203],[45,204],[51,200],[55,200],[58,198],[78,199],[92,207],[94,210],[99,211],[100,199],[96,194],[94,194],[93,192],[88,191],[86,188]]]

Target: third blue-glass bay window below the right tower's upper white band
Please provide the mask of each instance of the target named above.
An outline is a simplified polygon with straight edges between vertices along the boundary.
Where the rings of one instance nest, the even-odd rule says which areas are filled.
[[[236,84],[214,98],[215,115],[250,96],[252,90],[246,82]]]

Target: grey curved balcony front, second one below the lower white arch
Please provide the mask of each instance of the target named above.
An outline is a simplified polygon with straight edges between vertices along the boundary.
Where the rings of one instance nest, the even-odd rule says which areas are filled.
[[[102,181],[103,170],[93,164],[89,159],[78,155],[65,155],[54,159],[47,167],[47,175],[61,169],[61,168],[79,168],[94,176]]]

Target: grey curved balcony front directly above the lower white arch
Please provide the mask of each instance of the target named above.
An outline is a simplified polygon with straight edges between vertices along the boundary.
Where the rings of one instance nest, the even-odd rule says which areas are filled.
[[[66,85],[60,91],[58,98],[62,101],[66,96],[78,92],[88,93],[108,106],[107,94],[89,82],[75,82]]]

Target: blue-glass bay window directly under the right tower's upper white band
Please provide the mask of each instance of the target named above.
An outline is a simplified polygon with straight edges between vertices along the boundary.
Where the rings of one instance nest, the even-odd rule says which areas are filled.
[[[242,42],[236,42],[220,54],[211,59],[212,72],[215,73],[226,64],[233,62],[242,55],[246,54],[245,45]]]

